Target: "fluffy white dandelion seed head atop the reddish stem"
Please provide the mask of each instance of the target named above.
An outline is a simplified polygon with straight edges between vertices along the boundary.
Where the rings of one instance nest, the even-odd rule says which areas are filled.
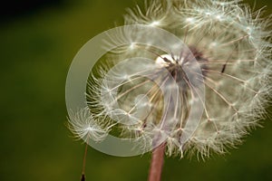
[[[90,135],[90,138],[101,140],[107,133],[105,130],[116,126],[122,137],[136,140],[160,135],[166,140],[166,152],[170,156],[197,153],[199,157],[209,157],[214,152],[225,153],[227,148],[239,144],[266,113],[272,90],[269,21],[258,19],[259,12],[251,14],[248,6],[238,0],[162,3],[152,0],[147,1],[146,6],[143,10],[139,6],[129,10],[125,24],[158,26],[178,36],[189,48],[180,47],[180,52],[173,54],[171,47],[177,48],[175,44],[170,45],[169,52],[149,44],[136,44],[138,39],[150,43],[154,40],[145,33],[131,34],[130,30],[112,37],[113,43],[131,44],[113,50],[116,56],[109,55],[107,62],[117,64],[119,60],[131,57],[147,57],[156,67],[148,71],[152,80],[135,76],[138,72],[133,70],[139,66],[137,61],[128,70],[113,70],[112,77],[97,79],[92,76],[96,84],[91,83],[87,91],[92,100],[95,98],[90,101],[91,110],[96,110],[92,112],[92,119],[99,119],[107,126],[99,129],[96,121],[88,119],[86,127],[78,119],[81,124],[75,127],[83,129],[75,132],[81,137]],[[141,66],[143,69],[139,72],[151,70],[149,64]],[[185,72],[186,68],[191,72]],[[198,68],[200,71],[196,71]],[[102,74],[109,70],[102,69]],[[115,85],[114,80],[121,82]],[[178,94],[174,91],[176,84]],[[197,96],[201,85],[205,88],[205,100]],[[111,92],[93,87],[114,89]],[[165,102],[161,89],[170,95],[170,102]],[[173,101],[178,103],[171,104]],[[203,115],[193,134],[183,142],[189,131],[189,113],[197,111],[192,108],[194,102],[203,106]],[[162,111],[165,105],[169,106],[166,106],[168,114]],[[180,112],[179,117],[175,117],[177,112]],[[169,117],[163,119],[166,116]],[[160,122],[160,119],[164,121]],[[124,124],[120,126],[116,122]],[[105,132],[102,134],[102,131]],[[151,145],[148,141],[144,144]]]

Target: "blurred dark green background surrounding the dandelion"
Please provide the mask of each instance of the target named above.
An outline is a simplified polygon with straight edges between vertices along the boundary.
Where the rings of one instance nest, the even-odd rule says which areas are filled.
[[[1,181],[80,180],[84,145],[65,127],[66,74],[83,44],[121,24],[125,8],[135,3],[142,0],[1,3]],[[271,14],[272,1],[256,1],[256,8],[265,5]],[[224,157],[167,158],[162,180],[272,180],[272,120],[263,126]],[[111,157],[89,148],[87,181],[146,180],[150,158]]]

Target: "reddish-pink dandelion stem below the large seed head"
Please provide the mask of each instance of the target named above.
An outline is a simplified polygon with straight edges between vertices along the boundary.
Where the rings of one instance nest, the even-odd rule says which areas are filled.
[[[163,166],[165,144],[161,144],[159,147],[154,148],[151,157],[151,167],[149,181],[160,181],[160,176]]]

